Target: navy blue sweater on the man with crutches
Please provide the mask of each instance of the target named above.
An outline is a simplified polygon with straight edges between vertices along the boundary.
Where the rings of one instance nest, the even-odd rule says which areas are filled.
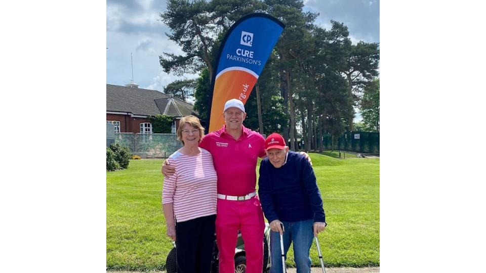
[[[268,222],[326,221],[314,170],[301,154],[289,151],[287,163],[280,168],[273,167],[268,157],[263,159],[258,196]]]

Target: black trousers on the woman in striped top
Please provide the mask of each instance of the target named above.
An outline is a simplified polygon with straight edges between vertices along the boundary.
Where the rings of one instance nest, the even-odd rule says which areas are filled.
[[[176,224],[178,273],[210,273],[215,240],[216,215]]]

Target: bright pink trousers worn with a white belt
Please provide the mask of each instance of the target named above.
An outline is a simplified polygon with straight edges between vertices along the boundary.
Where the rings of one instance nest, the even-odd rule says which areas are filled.
[[[258,197],[246,201],[218,199],[216,240],[219,272],[234,273],[234,249],[238,230],[245,242],[247,273],[261,273],[263,268],[263,231],[265,221]]]

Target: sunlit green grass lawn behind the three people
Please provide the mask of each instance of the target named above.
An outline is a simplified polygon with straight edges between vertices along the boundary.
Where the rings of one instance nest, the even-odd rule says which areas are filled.
[[[379,159],[310,157],[329,224],[319,234],[326,266],[379,265]],[[106,173],[107,269],[165,269],[172,243],[161,210],[162,162],[131,160],[128,169]],[[319,266],[315,245],[311,259]],[[292,249],[287,265],[295,266]]]

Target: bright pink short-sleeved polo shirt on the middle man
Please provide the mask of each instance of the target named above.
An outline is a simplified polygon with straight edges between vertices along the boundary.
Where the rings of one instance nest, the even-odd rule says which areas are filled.
[[[265,139],[243,126],[238,140],[223,128],[205,135],[199,147],[213,155],[218,174],[218,193],[242,196],[255,192],[257,159],[265,156]]]

